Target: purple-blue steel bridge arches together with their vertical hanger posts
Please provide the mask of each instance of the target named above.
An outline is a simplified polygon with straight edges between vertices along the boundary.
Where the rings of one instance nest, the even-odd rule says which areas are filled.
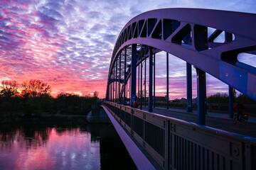
[[[198,124],[206,113],[206,73],[256,100],[256,68],[238,61],[242,52],[256,54],[256,14],[196,8],[164,8],[132,18],[114,45],[107,80],[106,99],[126,103],[127,86],[131,102],[136,96],[137,67],[149,58],[149,112],[154,88],[154,54],[164,51],[187,62],[187,101],[192,99],[191,64],[197,72]],[[224,34],[223,42],[216,38]],[[168,62],[167,62],[168,63]],[[146,68],[146,67],[145,67]],[[168,64],[167,64],[168,70]],[[146,71],[146,69],[145,69]],[[146,77],[146,74],[145,74]],[[168,91],[167,72],[167,91]],[[127,84],[130,80],[130,84]],[[167,93],[167,97],[169,92]],[[168,103],[167,103],[168,105]],[[142,104],[141,104],[142,106]],[[230,95],[230,107],[233,106]],[[191,110],[189,108],[188,111]],[[231,116],[232,113],[230,113]]]

